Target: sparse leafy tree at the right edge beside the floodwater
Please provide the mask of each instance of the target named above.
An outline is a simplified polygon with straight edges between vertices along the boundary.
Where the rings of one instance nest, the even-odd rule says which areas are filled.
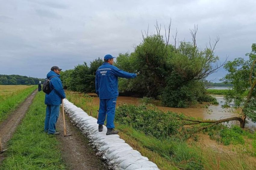
[[[240,127],[245,127],[245,119],[248,117],[256,122],[256,44],[252,44],[251,52],[245,54],[249,60],[236,58],[224,66],[228,74],[223,78],[225,83],[233,84],[233,89],[225,96],[226,104],[234,102],[236,107],[242,109]],[[247,95],[246,92],[248,92]]]

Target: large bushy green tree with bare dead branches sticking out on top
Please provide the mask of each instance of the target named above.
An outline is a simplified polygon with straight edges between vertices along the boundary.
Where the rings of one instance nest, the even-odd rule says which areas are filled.
[[[171,20],[170,20],[171,24]],[[156,22],[157,34],[142,34],[143,41],[131,54],[119,54],[116,65],[125,71],[139,73],[136,79],[120,79],[120,92],[141,94],[162,100],[165,106],[187,107],[200,101],[213,101],[204,88],[205,78],[216,72],[224,63],[214,54],[219,38],[210,47],[196,46],[197,27],[191,30],[193,42],[169,43],[170,24],[161,35],[161,25]],[[128,93],[128,94],[129,94]]]

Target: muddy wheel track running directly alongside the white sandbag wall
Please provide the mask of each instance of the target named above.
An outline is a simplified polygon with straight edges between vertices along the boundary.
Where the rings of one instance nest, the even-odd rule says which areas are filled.
[[[67,134],[72,136],[64,137],[63,117],[60,116],[57,122],[57,130],[61,133],[57,136],[61,142],[62,158],[68,164],[69,169],[86,169],[86,170],[101,170],[108,169],[108,166],[97,155],[96,152],[89,146],[89,141],[83,134],[76,129],[69,121],[67,115],[66,128]]]

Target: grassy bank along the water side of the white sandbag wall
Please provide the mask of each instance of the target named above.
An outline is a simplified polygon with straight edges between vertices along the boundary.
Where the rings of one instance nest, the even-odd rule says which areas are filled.
[[[87,113],[92,109],[92,116],[97,117],[98,105],[92,103],[92,97],[66,91],[67,99]],[[147,156],[160,169],[256,169],[255,158],[251,153],[237,150],[234,155],[219,153],[209,147],[202,147],[195,141],[187,143],[177,138],[155,138],[145,135],[143,130],[116,122],[116,128],[126,143]],[[143,128],[142,128],[143,129]],[[239,148],[239,147],[238,147]],[[246,148],[248,149],[248,148]],[[230,150],[229,152],[233,152]]]

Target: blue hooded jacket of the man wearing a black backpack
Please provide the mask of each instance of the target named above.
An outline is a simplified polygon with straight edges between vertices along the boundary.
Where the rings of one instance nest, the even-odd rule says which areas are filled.
[[[52,91],[49,94],[45,94],[45,104],[51,106],[59,106],[61,104],[61,98],[66,98],[66,95],[63,90],[60,75],[58,75],[54,71],[50,71],[47,74],[47,78],[49,79],[52,76],[56,77],[53,77],[50,80],[50,88],[52,89]]]

